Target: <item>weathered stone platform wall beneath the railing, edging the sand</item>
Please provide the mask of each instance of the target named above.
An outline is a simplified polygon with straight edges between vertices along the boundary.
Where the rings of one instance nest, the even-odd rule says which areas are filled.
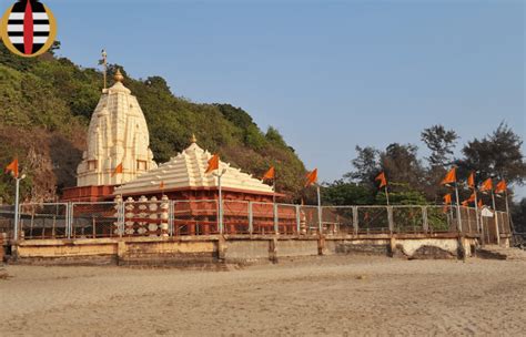
[[[30,239],[12,244],[10,263],[209,268],[221,264],[277,263],[281,258],[334,254],[462,258],[472,256],[476,247],[476,237],[459,237],[455,233]]]

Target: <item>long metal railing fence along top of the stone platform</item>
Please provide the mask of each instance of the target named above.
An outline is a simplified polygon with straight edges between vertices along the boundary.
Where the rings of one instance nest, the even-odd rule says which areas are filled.
[[[23,239],[183,235],[356,235],[463,233],[495,242],[512,233],[508,215],[482,216],[471,207],[303,206],[215,200],[145,197],[100,203],[21,204]],[[321,212],[321,214],[320,214]],[[490,214],[490,213],[489,213]],[[12,237],[13,207],[0,207],[0,226]]]

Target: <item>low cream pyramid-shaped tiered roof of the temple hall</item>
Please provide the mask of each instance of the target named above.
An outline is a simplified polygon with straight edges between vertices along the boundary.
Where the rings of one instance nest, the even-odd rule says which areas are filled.
[[[218,187],[218,177],[213,173],[222,172],[221,186],[225,190],[241,190],[256,194],[273,194],[271,186],[252,177],[251,174],[232,167],[229,163],[220,161],[220,168],[213,173],[205,174],[208,162],[212,154],[201,149],[195,139],[183,152],[172,157],[159,167],[150,170],[138,178],[115,188],[114,195],[158,193],[161,182],[163,191],[184,188],[212,188]]]

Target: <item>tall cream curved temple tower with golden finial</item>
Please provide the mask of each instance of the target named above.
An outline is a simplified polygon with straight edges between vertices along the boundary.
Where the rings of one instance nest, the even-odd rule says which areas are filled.
[[[156,167],[150,150],[144,114],[117,72],[115,83],[102,91],[88,130],[88,150],[77,168],[78,186],[118,185]],[[122,164],[123,172],[113,175]]]

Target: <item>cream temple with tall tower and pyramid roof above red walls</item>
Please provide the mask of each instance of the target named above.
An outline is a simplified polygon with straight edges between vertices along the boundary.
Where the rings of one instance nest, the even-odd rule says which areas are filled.
[[[122,198],[216,200],[219,178],[205,173],[212,154],[195,136],[190,146],[159,167],[150,150],[144,114],[117,72],[115,83],[102,91],[88,130],[88,149],[77,168],[77,186],[65,188],[70,202]],[[121,165],[122,172],[117,172]],[[261,180],[220,162],[225,200],[272,202],[277,194]]]

